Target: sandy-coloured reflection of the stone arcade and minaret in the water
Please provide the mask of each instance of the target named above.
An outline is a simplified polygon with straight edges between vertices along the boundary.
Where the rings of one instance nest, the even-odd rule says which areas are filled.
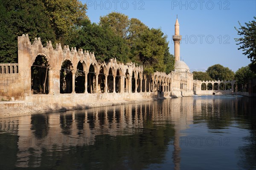
[[[6,118],[1,119],[1,130],[15,132],[19,136],[16,166],[37,167],[41,162],[43,148],[52,150],[58,147],[91,145],[95,144],[99,139],[97,136],[100,135],[140,133],[143,131],[145,120],[150,120],[153,124],[170,121],[175,129],[174,161],[178,164],[180,148],[176,139],[182,136],[181,130],[189,128],[189,124],[192,124],[193,110],[190,109],[189,98],[155,102],[157,101]],[[29,148],[33,148],[34,153],[37,153],[36,161],[30,160]]]

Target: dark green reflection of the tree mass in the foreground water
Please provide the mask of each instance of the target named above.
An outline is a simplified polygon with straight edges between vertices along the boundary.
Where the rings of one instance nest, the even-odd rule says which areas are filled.
[[[133,135],[97,135],[93,145],[70,147],[68,151],[58,154],[59,164],[56,166],[59,169],[145,169],[150,164],[163,163],[173,136],[171,124],[163,127],[152,124]],[[54,149],[52,155],[57,153],[58,149]],[[44,161],[47,164],[56,163],[47,156]]]

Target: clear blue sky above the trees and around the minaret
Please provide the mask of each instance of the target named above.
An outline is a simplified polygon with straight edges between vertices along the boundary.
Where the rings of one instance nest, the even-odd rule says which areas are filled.
[[[138,18],[149,28],[161,28],[168,36],[174,54],[172,35],[176,14],[180,23],[180,57],[191,70],[206,70],[214,64],[234,72],[247,66],[250,59],[237,48],[234,26],[239,27],[256,16],[256,0],[82,0],[88,6],[92,22],[110,12]]]

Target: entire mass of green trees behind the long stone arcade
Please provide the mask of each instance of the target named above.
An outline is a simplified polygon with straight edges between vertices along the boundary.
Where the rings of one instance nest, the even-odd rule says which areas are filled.
[[[95,52],[97,60],[143,64],[145,72],[169,73],[174,57],[161,29],[149,29],[137,18],[111,12],[90,23],[79,0],[6,0],[0,4],[0,62],[17,63],[17,36],[41,37],[52,44]]]

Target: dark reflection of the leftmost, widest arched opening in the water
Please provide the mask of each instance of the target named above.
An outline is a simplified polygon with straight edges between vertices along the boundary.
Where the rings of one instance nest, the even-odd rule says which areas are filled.
[[[48,135],[49,131],[49,118],[48,115],[32,115],[31,116],[31,130],[37,138],[44,138]]]

